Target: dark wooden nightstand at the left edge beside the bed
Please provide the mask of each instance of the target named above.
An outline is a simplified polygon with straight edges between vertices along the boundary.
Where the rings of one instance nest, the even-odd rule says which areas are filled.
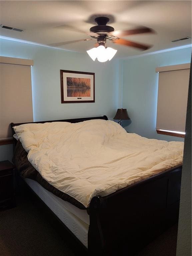
[[[0,162],[0,209],[15,207],[15,166]]]

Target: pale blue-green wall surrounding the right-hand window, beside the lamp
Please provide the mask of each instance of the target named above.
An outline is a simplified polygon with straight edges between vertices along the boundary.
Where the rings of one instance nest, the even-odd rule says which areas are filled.
[[[184,139],[179,137],[156,133],[158,73],[155,72],[155,68],[190,63],[190,61],[191,48],[123,61],[122,102],[123,108],[127,108],[131,118],[131,121],[123,122],[127,131],[147,138],[184,141]]]

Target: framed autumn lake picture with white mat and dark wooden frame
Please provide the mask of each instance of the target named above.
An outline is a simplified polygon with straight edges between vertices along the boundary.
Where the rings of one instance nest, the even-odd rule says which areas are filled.
[[[95,102],[95,73],[60,70],[61,103]]]

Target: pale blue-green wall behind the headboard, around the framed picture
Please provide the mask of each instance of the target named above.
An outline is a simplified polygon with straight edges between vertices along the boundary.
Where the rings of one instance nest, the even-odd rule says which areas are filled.
[[[34,60],[31,67],[34,121],[114,117],[118,107],[118,61],[94,62],[87,53],[6,39],[0,39],[0,55]],[[61,104],[60,69],[94,72],[95,103]],[[11,154],[11,145],[0,147],[0,161],[10,159]]]

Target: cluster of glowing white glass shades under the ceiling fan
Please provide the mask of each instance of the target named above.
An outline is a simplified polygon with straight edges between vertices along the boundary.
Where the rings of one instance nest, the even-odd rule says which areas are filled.
[[[117,50],[111,47],[105,48],[103,45],[100,45],[97,48],[92,48],[91,50],[87,51],[87,53],[93,61],[95,61],[95,59],[97,58],[97,60],[100,62],[111,60],[116,54],[116,52]]]

